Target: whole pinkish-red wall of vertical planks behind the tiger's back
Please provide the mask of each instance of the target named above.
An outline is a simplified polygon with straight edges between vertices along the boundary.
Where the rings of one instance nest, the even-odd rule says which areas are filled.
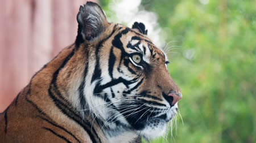
[[[1,0],[0,112],[36,71],[75,41],[76,14],[85,3],[85,0]]]

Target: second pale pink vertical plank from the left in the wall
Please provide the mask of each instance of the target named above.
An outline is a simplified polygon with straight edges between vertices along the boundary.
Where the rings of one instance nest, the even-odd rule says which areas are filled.
[[[51,59],[52,50],[51,0],[32,1],[31,7],[30,76]]]

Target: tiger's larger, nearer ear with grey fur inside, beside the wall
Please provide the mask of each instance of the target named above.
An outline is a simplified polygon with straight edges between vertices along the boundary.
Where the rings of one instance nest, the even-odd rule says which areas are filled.
[[[105,30],[108,20],[106,20],[104,12],[97,3],[87,2],[86,5],[80,6],[77,22],[79,24],[77,41],[80,38],[80,41],[91,42]]]

